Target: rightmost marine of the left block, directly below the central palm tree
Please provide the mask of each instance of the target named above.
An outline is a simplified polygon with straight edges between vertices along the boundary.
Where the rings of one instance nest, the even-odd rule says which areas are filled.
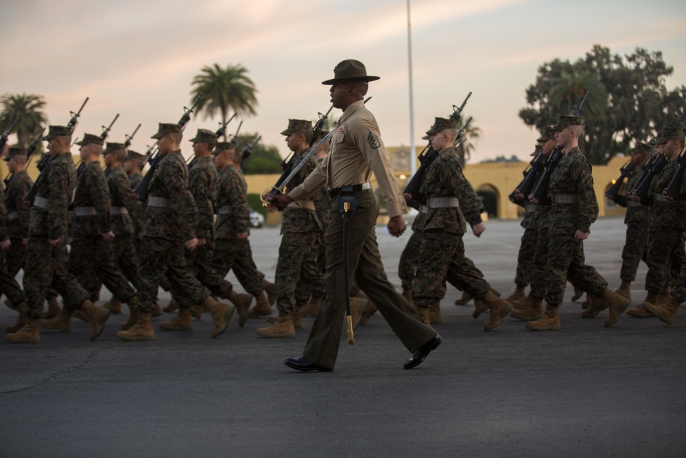
[[[246,198],[248,183],[235,168],[239,162],[235,143],[220,141],[213,154],[215,166],[222,172],[217,177],[216,243],[212,266],[222,278],[233,269],[241,286],[255,296],[257,304],[248,311],[250,316],[270,315],[272,308],[265,289],[274,285],[264,279],[252,259],[250,207]]]

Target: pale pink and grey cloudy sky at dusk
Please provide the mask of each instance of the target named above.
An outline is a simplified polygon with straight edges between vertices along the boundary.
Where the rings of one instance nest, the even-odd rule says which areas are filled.
[[[662,51],[674,67],[668,89],[686,84],[684,1],[410,5],[416,144],[435,116],[447,117],[472,91],[464,114],[482,136],[471,162],[528,157],[539,135],[517,113],[538,67],[554,58],[577,60],[595,44],[615,54],[643,47]],[[259,91],[257,115],[244,119],[241,132],[259,132],[285,156],[279,132],[288,118],[326,112],[329,87],[321,82],[333,78],[338,62],[355,58],[381,77],[370,83],[368,108],[384,143],[410,145],[405,0],[5,0],[0,43],[0,93],[43,95],[50,124],[66,124],[90,97],[78,137],[99,134],[119,113],[109,140],[123,141],[141,123],[131,148],[143,151],[158,122],[178,122],[202,67],[240,64]],[[186,132],[216,130],[218,121],[193,117]],[[191,154],[186,140],[182,148]]]

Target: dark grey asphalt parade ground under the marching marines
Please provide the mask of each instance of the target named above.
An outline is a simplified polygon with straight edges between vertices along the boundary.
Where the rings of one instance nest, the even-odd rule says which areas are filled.
[[[518,221],[490,221],[466,253],[505,296],[514,290]],[[624,224],[591,227],[587,262],[619,286]],[[392,283],[409,237],[377,228]],[[274,277],[279,229],[254,229],[257,266]],[[641,264],[632,306],[645,298]],[[21,276],[21,273],[20,273]],[[230,280],[237,285],[233,274]],[[21,283],[21,277],[19,278]],[[237,286],[240,289],[239,286]],[[672,326],[606,312],[582,319],[567,289],[562,330],[532,332],[510,317],[492,332],[473,305],[442,301],[445,338],[418,368],[376,314],[342,342],[333,372],[283,365],[303,350],[313,319],[295,339],[261,339],[263,319],[234,317],[210,339],[204,314],[185,332],[156,330],[154,342],[117,341],[113,315],[95,342],[89,325],[44,330],[42,343],[0,344],[0,455],[3,457],[210,456],[686,456],[686,311]],[[101,303],[110,298],[103,290]],[[169,295],[160,295],[166,305]],[[155,327],[163,319],[154,319]],[[0,309],[4,329],[15,314]]]

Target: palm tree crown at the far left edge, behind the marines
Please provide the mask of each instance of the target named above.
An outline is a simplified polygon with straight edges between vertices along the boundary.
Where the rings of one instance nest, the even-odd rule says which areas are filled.
[[[12,133],[15,133],[19,139],[19,146],[26,148],[31,141],[31,136],[47,122],[43,113],[43,108],[45,108],[43,95],[5,94],[0,98],[0,104],[2,104],[0,127],[3,130],[9,128],[14,119],[19,117],[19,122]]]

